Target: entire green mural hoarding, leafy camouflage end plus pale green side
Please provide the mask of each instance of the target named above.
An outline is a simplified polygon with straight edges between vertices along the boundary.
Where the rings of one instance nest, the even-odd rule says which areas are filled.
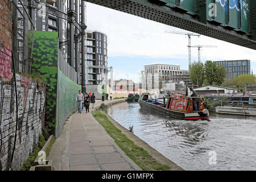
[[[59,137],[65,120],[77,109],[76,94],[81,86],[58,68],[57,32],[35,31],[32,73],[39,72],[47,84],[46,129]]]

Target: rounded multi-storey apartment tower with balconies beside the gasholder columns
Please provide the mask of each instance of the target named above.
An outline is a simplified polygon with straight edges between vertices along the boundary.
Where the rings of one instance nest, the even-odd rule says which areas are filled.
[[[108,85],[108,43],[105,34],[86,32],[86,61],[86,84]]]

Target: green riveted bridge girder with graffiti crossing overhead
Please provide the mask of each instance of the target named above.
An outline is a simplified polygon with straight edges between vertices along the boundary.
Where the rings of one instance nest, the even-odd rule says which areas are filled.
[[[256,49],[255,0],[86,0],[86,2]],[[212,5],[215,5],[216,9]]]

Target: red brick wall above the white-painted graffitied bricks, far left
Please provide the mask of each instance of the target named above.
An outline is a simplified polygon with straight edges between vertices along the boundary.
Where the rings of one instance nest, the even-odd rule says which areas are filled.
[[[12,10],[10,0],[0,1],[0,76],[10,80],[11,73],[11,29]]]

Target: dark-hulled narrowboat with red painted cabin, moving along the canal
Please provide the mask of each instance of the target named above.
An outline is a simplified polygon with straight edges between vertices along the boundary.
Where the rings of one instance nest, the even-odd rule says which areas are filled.
[[[170,97],[167,104],[157,100],[148,99],[149,94],[142,94],[139,98],[139,106],[145,110],[166,114],[169,117],[185,120],[208,120],[209,111],[204,107],[205,97]],[[193,111],[193,98],[198,98],[199,111]]]

